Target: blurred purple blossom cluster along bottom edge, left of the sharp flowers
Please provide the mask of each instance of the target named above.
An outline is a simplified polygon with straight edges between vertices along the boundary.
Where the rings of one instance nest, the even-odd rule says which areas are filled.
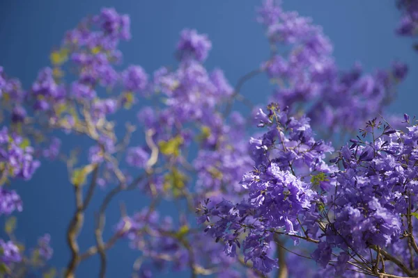
[[[231,268],[233,260],[222,254],[220,245],[208,244],[208,236],[194,233],[184,218],[180,217],[176,226],[173,218],[161,218],[159,213],[144,209],[132,217],[122,218],[116,225],[116,233],[128,238],[131,247],[141,250],[148,258],[144,261],[145,267],[139,270],[141,275],[153,268],[181,271],[192,263],[194,271],[202,275],[216,272],[219,277],[229,277],[229,274],[238,277],[240,272]],[[207,258],[210,261],[206,261]]]

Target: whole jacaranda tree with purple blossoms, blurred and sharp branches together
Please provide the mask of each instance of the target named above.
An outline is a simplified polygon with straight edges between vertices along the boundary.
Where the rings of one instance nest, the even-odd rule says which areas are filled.
[[[396,32],[416,35],[418,1],[398,8]],[[340,70],[322,28],[279,1],[264,1],[257,19],[270,58],[235,86],[206,70],[212,44],[194,29],[180,33],[178,65],[152,75],[121,68],[130,18],[113,8],[65,33],[30,88],[0,67],[2,277],[76,277],[92,256],[100,269],[91,277],[105,277],[107,251],[120,241],[137,250],[133,267],[121,265],[132,277],[418,277],[418,123],[386,111],[408,67]],[[240,90],[259,74],[274,92],[255,105]],[[116,132],[116,115],[132,109],[137,119]],[[90,147],[67,152],[63,138]],[[74,191],[64,267],[49,265],[59,239],[40,235],[24,247],[14,234],[23,208],[14,181],[30,183],[45,160],[67,167]],[[85,218],[98,190],[95,218]],[[121,208],[106,226],[109,204],[129,190],[148,202],[134,215]],[[167,202],[178,209],[162,213]],[[95,242],[80,246],[92,221]]]

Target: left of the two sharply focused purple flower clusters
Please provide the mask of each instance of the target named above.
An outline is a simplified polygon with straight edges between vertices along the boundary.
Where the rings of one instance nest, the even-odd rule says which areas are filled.
[[[268,114],[260,111],[257,115],[259,126],[268,127],[268,131],[250,140],[254,170],[242,178],[248,197],[238,204],[206,201],[199,218],[201,223],[211,222],[206,232],[223,240],[230,256],[235,256],[244,236],[245,260],[262,272],[277,266],[268,256],[274,234],[300,235],[301,223],[316,212],[320,196],[307,183],[310,174],[323,177],[318,183],[325,190],[331,182],[325,177],[334,172],[324,161],[333,149],[314,139],[309,119],[290,117],[277,104],[268,109]]]

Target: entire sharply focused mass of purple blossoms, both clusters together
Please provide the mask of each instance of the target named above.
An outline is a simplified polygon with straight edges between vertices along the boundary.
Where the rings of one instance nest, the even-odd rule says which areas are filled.
[[[206,233],[222,241],[229,256],[242,246],[245,259],[261,272],[279,266],[269,256],[271,243],[287,235],[295,243],[317,244],[310,256],[324,268],[316,272],[321,277],[350,277],[346,271],[356,268],[370,275],[415,275],[405,263],[418,252],[415,119],[405,115],[406,132],[370,120],[361,131],[371,142],[357,136],[328,164],[325,153],[333,149],[314,140],[307,118],[288,117],[274,104],[268,108],[257,119],[269,130],[250,141],[254,170],[242,178],[248,197],[235,204],[206,200],[198,220],[206,223]],[[387,261],[386,270],[379,260]]]

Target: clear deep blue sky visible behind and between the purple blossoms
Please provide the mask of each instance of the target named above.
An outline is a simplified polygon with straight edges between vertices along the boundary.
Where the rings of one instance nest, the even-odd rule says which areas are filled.
[[[49,63],[49,52],[61,42],[63,33],[73,28],[85,15],[98,13],[102,6],[115,7],[128,13],[132,20],[132,40],[121,50],[125,64],[138,64],[147,72],[162,65],[173,65],[178,33],[185,27],[207,33],[213,49],[206,62],[209,69],[220,67],[232,84],[254,70],[268,58],[268,44],[263,29],[256,23],[254,8],[259,1],[144,1],[144,0],[42,0],[0,3],[0,65],[10,76],[30,85],[38,69]],[[286,10],[297,10],[313,17],[323,26],[334,44],[334,55],[342,69],[360,61],[366,71],[389,67],[393,60],[410,65],[410,74],[399,88],[398,99],[391,106],[394,113],[417,114],[418,54],[412,41],[394,34],[399,13],[392,0],[284,0]],[[263,102],[270,92],[261,76],[245,85],[242,93],[255,102]],[[125,120],[125,119],[121,119]],[[73,145],[86,144],[75,142]],[[68,146],[65,146],[68,149]],[[17,235],[29,245],[45,232],[52,234],[55,250],[52,263],[63,267],[69,257],[65,229],[74,209],[72,188],[67,182],[64,165],[45,163],[29,183],[18,183],[24,212],[19,216]],[[93,199],[88,217],[100,204],[99,193]],[[139,210],[144,204],[137,195],[123,195],[128,210]],[[108,226],[118,220],[118,201],[109,207]],[[168,208],[167,208],[168,211]],[[107,236],[109,234],[105,234]],[[93,223],[87,222],[80,245],[94,243]],[[109,252],[107,277],[127,277],[137,253],[121,243]],[[98,258],[84,263],[79,277],[95,277]],[[173,277],[173,276],[170,276]],[[181,277],[181,275],[179,276]]]

